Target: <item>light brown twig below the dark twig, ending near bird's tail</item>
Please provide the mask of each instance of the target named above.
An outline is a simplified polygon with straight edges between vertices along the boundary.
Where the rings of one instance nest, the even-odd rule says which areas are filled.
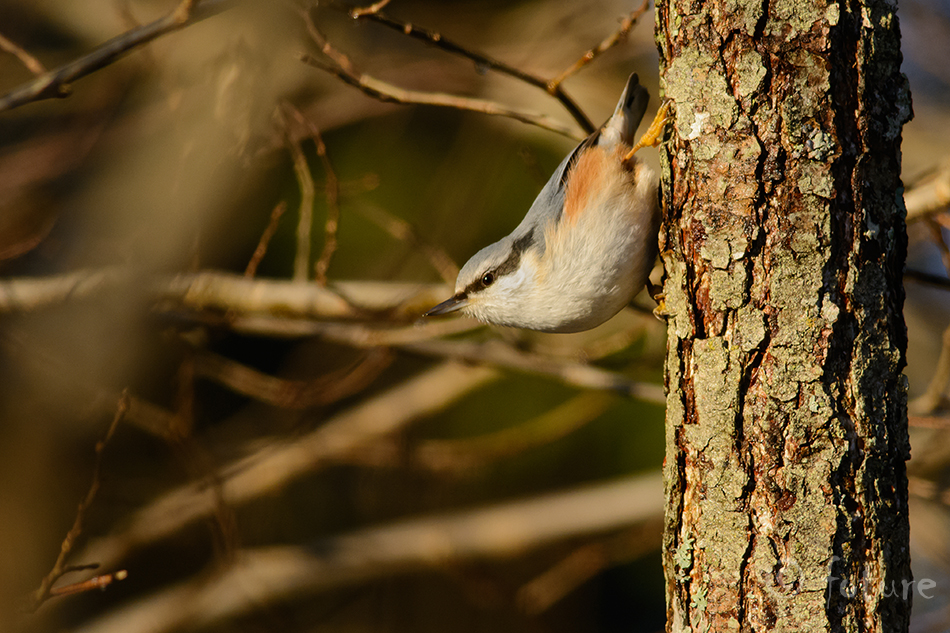
[[[406,90],[374,79],[365,73],[349,72],[345,68],[334,64],[327,64],[307,54],[301,55],[300,61],[335,75],[344,83],[359,88],[370,97],[386,103],[429,105],[441,108],[453,108],[455,110],[468,110],[493,116],[503,116],[523,123],[536,125],[568,138],[575,140],[578,138],[571,128],[543,114],[512,110],[511,108],[506,108],[499,103],[486,99],[471,99],[441,92]]]

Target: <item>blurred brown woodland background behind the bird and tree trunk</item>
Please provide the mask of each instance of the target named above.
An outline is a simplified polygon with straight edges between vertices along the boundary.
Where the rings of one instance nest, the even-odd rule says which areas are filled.
[[[7,0],[0,93],[176,6]],[[658,94],[652,8],[203,6],[68,98],[0,110],[2,628],[662,630],[652,302],[577,335],[418,323],[585,135],[531,78],[603,43],[561,84],[593,125],[631,72]],[[950,5],[900,16],[925,186]],[[942,223],[915,219],[909,268],[946,278]],[[937,587],[914,627],[947,630],[950,305],[939,280],[907,291],[912,395],[936,394],[912,420]],[[49,595],[63,571],[76,593]]]

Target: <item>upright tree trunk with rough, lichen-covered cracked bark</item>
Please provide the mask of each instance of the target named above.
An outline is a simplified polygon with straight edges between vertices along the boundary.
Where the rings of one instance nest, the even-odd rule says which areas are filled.
[[[907,629],[895,11],[657,6],[670,631]]]

